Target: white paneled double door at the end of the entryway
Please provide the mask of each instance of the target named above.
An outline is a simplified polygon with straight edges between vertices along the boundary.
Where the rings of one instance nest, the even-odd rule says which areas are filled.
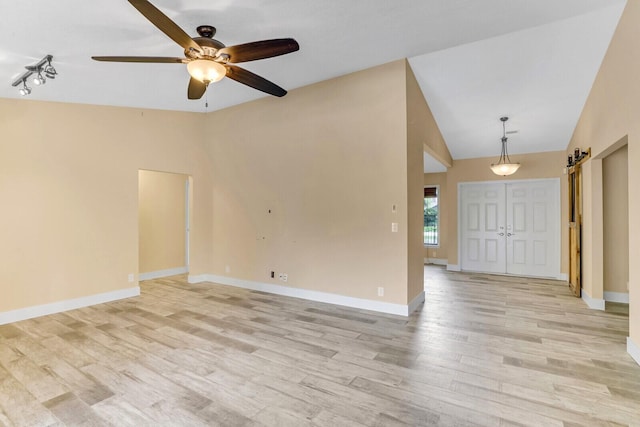
[[[559,277],[559,179],[464,183],[459,194],[462,270]]]

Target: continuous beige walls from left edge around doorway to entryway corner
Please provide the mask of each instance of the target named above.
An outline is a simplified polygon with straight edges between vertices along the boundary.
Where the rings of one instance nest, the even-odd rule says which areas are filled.
[[[139,267],[169,266],[138,263],[141,169],[192,177],[194,276],[284,284],[273,270],[287,286],[407,304],[422,289],[433,134],[412,125],[428,107],[407,67],[208,115],[0,100],[0,197],[11,201],[0,210],[0,311],[129,288]]]

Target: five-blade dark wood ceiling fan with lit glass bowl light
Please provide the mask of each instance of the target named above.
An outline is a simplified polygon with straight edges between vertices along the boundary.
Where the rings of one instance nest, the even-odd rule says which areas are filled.
[[[187,97],[200,99],[211,82],[229,77],[239,83],[274,96],[284,96],[287,91],[258,76],[240,68],[240,62],[255,61],[295,52],[300,49],[298,42],[291,38],[261,40],[257,42],[225,46],[214,39],[216,28],[201,25],[197,28],[199,37],[189,37],[182,28],[147,0],[128,0],[153,25],[184,49],[184,58],[160,56],[92,56],[96,61],[109,62],[146,62],[166,64],[187,64],[191,75]]]

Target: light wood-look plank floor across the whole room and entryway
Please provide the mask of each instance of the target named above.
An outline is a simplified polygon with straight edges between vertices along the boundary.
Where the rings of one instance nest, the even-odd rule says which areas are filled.
[[[0,426],[640,425],[623,306],[425,267],[409,318],[184,276],[0,326]]]

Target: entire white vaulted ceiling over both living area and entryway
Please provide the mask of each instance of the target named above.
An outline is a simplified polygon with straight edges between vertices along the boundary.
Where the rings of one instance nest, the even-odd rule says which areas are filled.
[[[300,51],[242,66],[291,90],[409,58],[454,159],[566,147],[625,0],[153,0],[190,35],[217,27],[227,46],[293,37]],[[126,0],[3,1],[0,97],[46,54],[58,78],[30,99],[213,111],[258,92],[229,79],[186,99],[182,64],[116,64],[92,55],[182,56]],[[208,103],[208,106],[207,106]]]

